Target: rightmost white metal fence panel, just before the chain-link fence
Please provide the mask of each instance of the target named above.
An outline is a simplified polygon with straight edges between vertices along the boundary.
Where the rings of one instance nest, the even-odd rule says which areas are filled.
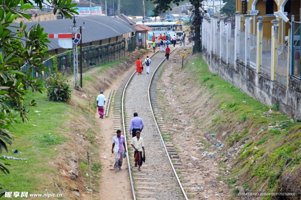
[[[277,65],[275,77],[281,85],[287,85],[287,45],[282,43],[277,43]]]

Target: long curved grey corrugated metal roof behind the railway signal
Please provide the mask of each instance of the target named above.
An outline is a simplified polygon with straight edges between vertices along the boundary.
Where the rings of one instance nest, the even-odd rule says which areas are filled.
[[[76,17],[75,20],[77,28],[79,28],[79,26],[85,28],[82,29],[83,43],[113,38],[128,32],[137,31],[137,29],[135,29],[130,24],[114,17],[101,15],[87,15],[82,17]],[[85,22],[85,24],[83,22]],[[26,22],[23,23],[23,25],[26,24],[26,29],[29,29],[36,23],[37,22]],[[72,29],[70,29],[70,27],[73,26],[73,19],[40,21],[39,23],[41,27],[44,28],[44,33],[69,33],[69,31],[72,32]],[[14,30],[15,28],[12,28],[12,31]],[[57,38],[48,39],[50,40],[50,43],[48,43],[48,50],[61,48],[60,45],[58,45]]]

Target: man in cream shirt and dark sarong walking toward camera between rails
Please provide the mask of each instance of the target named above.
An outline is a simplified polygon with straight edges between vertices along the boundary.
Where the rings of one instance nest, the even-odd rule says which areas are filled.
[[[142,162],[143,162],[142,150],[143,150],[143,154],[145,154],[145,150],[144,150],[143,138],[140,137],[140,131],[136,132],[136,137],[133,137],[131,145],[135,149],[135,153],[134,153],[135,167],[139,165],[138,171],[141,171],[140,167],[142,166]]]

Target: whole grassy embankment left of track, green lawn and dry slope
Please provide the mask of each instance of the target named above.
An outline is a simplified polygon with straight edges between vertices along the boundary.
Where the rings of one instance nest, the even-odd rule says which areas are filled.
[[[105,73],[112,66],[125,60],[127,59],[106,63],[100,67],[96,67],[98,69],[93,67],[93,74]],[[89,70],[85,70],[85,72],[88,74]],[[91,77],[90,75],[83,76],[84,91],[88,90],[88,88],[85,88],[86,82],[95,82],[95,77]],[[70,83],[70,85],[73,84]],[[8,166],[10,171],[8,176],[2,173],[0,175],[0,183],[3,184],[4,189],[9,189],[11,192],[64,193],[54,186],[54,183],[57,183],[57,186],[62,186],[63,190],[67,193],[72,192],[76,187],[81,190],[81,193],[84,192],[84,187],[80,187],[79,182],[90,182],[90,178],[85,175],[89,173],[85,153],[89,149],[90,144],[89,151],[91,153],[90,163],[92,165],[92,173],[95,175],[98,173],[101,164],[98,162],[99,145],[96,141],[97,136],[95,133],[100,132],[100,130],[93,120],[95,109],[92,108],[91,113],[89,112],[89,102],[91,102],[91,106],[93,107],[96,105],[95,100],[76,98],[74,92],[70,104],[48,101],[46,93],[31,93],[26,95],[25,102],[28,99],[35,99],[37,107],[30,107],[28,122],[23,124],[19,118],[18,122],[14,124],[14,129],[10,131],[16,136],[15,140],[12,146],[9,146],[9,152],[3,152],[2,154],[27,158],[28,160],[5,159],[5,163],[11,166]],[[14,149],[17,149],[19,153],[14,154]],[[76,181],[62,178],[60,169],[65,169],[66,171],[70,158],[76,156],[79,161],[79,177]],[[96,177],[96,179],[98,178]],[[98,183],[95,180],[92,181],[95,183],[92,189],[96,191]],[[62,198],[70,198],[70,195],[65,194]]]

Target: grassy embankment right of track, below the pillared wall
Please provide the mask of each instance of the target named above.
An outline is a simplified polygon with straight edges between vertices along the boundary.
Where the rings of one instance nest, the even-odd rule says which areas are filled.
[[[234,158],[232,178],[224,178],[229,187],[237,183],[252,191],[274,192],[280,179],[285,179],[294,167],[290,177],[298,178],[294,173],[300,169],[301,124],[278,112],[278,105],[263,105],[217,74],[210,73],[200,54],[193,57],[185,64],[184,70],[190,76],[183,85],[190,82],[192,87],[202,88],[199,97],[216,105],[215,109],[207,111],[205,118],[196,118],[196,126],[207,124],[203,131],[217,134],[218,140],[225,131],[228,137],[223,141],[224,149],[244,144],[240,152],[235,151],[235,158],[231,157]],[[208,118],[212,120],[208,122]],[[222,162],[220,166],[226,168]],[[298,187],[290,188],[291,192],[297,192]],[[234,188],[233,192],[237,194],[237,190]],[[263,199],[270,199],[270,196]]]

